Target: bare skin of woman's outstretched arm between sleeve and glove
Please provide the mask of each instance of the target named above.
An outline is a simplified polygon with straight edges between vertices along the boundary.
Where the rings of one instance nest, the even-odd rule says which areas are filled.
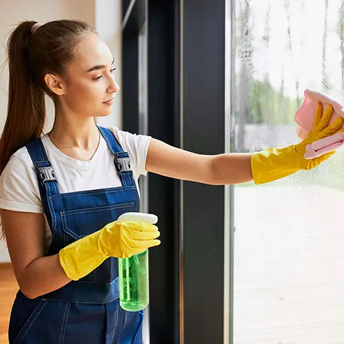
[[[212,185],[239,184],[252,180],[250,153],[201,155],[151,139],[146,170],[180,180]]]

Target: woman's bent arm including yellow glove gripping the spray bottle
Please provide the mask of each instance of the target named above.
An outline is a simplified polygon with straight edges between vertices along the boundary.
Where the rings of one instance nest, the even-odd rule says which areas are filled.
[[[158,246],[158,227],[145,222],[111,222],[102,229],[44,256],[42,214],[1,209],[8,250],[19,288],[29,299],[85,277],[109,257],[127,258]]]

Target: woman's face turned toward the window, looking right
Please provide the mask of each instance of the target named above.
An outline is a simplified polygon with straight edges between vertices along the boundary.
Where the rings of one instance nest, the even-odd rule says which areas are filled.
[[[87,34],[78,46],[78,58],[63,79],[59,100],[78,116],[107,116],[119,89],[109,47],[96,34]]]

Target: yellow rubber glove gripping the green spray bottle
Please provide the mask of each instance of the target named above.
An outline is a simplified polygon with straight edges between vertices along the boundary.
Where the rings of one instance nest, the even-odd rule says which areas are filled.
[[[128,258],[158,246],[158,227],[147,222],[111,222],[58,252],[63,270],[77,281],[92,272],[109,257]]]

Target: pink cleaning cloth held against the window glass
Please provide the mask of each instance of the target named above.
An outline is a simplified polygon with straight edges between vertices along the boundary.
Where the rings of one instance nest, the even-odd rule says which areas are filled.
[[[344,118],[344,106],[338,103],[336,100],[327,96],[323,92],[316,92],[312,89],[305,90],[305,100],[303,101],[301,107],[295,113],[294,120],[297,122],[297,135],[299,138],[304,139],[307,137],[308,133],[312,131],[314,125],[314,115],[316,107],[318,106],[319,100],[323,104],[323,110],[332,105],[334,112],[332,114],[330,124],[336,120],[339,116]],[[344,125],[343,125],[344,127]],[[334,134],[327,138],[323,138],[314,142],[313,144],[308,144],[304,158],[312,159],[317,156],[323,155],[329,151],[333,151],[341,145],[344,144],[344,133]]]

